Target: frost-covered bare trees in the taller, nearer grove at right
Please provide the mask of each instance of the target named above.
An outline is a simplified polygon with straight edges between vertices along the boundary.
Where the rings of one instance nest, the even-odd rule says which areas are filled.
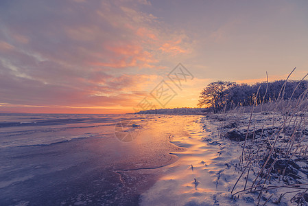
[[[290,80],[283,87],[284,84],[285,80],[258,82],[252,85],[227,81],[211,82],[202,89],[198,106],[211,108],[214,112],[218,112],[224,108],[228,110],[235,106],[275,102],[278,99],[289,100],[291,98],[294,100],[298,99],[308,88],[307,80]]]

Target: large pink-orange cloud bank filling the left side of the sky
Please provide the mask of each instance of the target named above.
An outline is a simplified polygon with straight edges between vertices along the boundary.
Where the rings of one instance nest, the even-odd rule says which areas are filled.
[[[141,12],[138,6],[84,1],[78,5],[84,10],[75,10],[76,4],[71,3],[63,1],[54,16],[43,15],[39,21],[23,25],[21,16],[27,12],[20,10],[23,15],[13,16],[14,21],[0,32],[10,34],[0,41],[4,54],[0,62],[1,111],[125,111],[162,80],[152,68],[169,70],[165,60],[187,52],[182,35],[166,30],[155,16]],[[68,11],[71,18],[59,18]],[[22,49],[15,49],[17,45]]]

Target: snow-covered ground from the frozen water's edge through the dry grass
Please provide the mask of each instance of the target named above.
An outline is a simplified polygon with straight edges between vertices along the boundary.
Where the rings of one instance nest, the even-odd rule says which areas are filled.
[[[209,115],[200,117],[192,124],[187,125],[187,137],[174,135],[171,143],[183,146],[187,150],[174,153],[180,159],[164,168],[165,175],[143,194],[141,205],[257,205],[258,202],[263,205],[270,197],[266,205],[298,205],[298,201],[296,202],[296,198],[293,197],[296,194],[296,197],[300,196],[300,192],[305,192],[305,190],[286,187],[268,190],[268,192],[263,192],[260,201],[258,192],[248,194],[244,192],[239,196],[236,195],[235,198],[231,195],[233,186],[246,165],[244,163],[242,167],[239,166],[239,157],[244,141],[241,141],[243,139],[235,141],[232,134],[236,133],[239,135],[238,138],[245,138],[249,119],[249,113]],[[258,139],[260,137],[258,132],[262,126],[264,130],[262,139],[266,139],[270,137],[270,128],[273,128],[273,124],[275,128],[282,121],[283,116],[277,113],[254,113],[250,124],[251,131],[257,130],[254,141],[261,141],[261,139]],[[226,138],[227,136],[228,138]],[[270,139],[269,141],[272,142],[273,140]],[[305,146],[306,141],[307,138],[304,138],[302,145]],[[277,145],[279,144],[277,143]],[[247,145],[250,144],[247,143]],[[263,151],[263,148],[261,150]],[[246,189],[252,185],[256,178],[262,166],[262,161],[260,162],[251,167]],[[283,181],[279,181],[279,175],[276,174],[278,169],[275,168],[277,167],[275,164],[270,181],[266,183],[265,188],[271,185],[308,183],[307,159],[294,155],[292,163],[295,163],[294,167],[288,166],[288,170],[293,170],[296,176],[291,172],[285,175]],[[248,169],[237,183],[233,194],[244,190],[247,171]],[[302,187],[305,187],[305,185]],[[289,193],[284,194],[285,192]],[[284,195],[279,201],[282,194]],[[302,199],[305,199],[304,196]],[[279,201],[279,203],[274,203],[276,201]],[[302,203],[305,205],[305,202]]]

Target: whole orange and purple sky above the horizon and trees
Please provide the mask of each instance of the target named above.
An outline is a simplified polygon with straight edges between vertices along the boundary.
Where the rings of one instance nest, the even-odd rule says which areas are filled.
[[[167,74],[181,62],[182,90]],[[215,80],[308,71],[308,1],[0,1],[0,113],[131,113],[165,80],[196,107]]]

